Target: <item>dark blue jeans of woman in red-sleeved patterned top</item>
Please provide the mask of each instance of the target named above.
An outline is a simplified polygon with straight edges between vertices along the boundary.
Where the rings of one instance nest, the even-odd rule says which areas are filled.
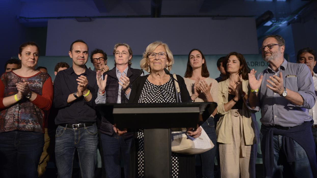
[[[0,133],[0,177],[37,178],[44,133],[13,130]]]

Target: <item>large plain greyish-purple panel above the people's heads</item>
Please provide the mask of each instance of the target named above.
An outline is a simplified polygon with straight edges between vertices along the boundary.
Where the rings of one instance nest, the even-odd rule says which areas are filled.
[[[157,40],[167,43],[175,55],[188,55],[193,48],[210,55],[259,53],[254,17],[52,19],[48,21],[46,56],[67,55],[77,39],[88,44],[89,52],[99,48],[109,55],[116,43],[127,43],[134,55],[142,55]]]

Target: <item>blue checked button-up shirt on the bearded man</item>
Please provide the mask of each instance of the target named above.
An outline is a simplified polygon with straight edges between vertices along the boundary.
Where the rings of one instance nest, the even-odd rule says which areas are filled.
[[[279,76],[280,72],[283,75],[284,87],[300,94],[304,100],[303,105],[295,105],[266,87],[268,77]],[[262,124],[265,126],[294,127],[312,120],[312,117],[308,115],[308,109],[314,106],[316,95],[312,75],[305,64],[288,63],[284,59],[277,72],[268,66],[267,69],[256,75],[256,79],[259,80],[261,75],[263,75],[263,80],[259,89],[258,104],[255,109],[251,109],[248,99],[247,107],[251,111],[259,111],[261,108],[262,118],[260,121]]]

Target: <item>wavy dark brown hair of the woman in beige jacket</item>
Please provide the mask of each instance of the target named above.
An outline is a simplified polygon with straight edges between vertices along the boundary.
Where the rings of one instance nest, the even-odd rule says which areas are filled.
[[[230,73],[227,71],[227,63],[228,63],[228,60],[229,60],[229,57],[230,56],[236,56],[239,61],[240,61],[240,67],[241,67],[241,70],[239,71],[239,75],[242,75],[242,79],[244,80],[248,80],[249,79],[249,71],[248,71],[248,65],[247,63],[245,62],[245,59],[243,57],[242,54],[240,53],[237,53],[237,52],[231,52],[229,53],[227,56],[226,56],[226,59],[223,60],[223,63],[222,63],[222,66],[224,68],[224,70],[226,71],[226,76],[224,77],[223,80],[226,80],[229,78],[230,76]]]

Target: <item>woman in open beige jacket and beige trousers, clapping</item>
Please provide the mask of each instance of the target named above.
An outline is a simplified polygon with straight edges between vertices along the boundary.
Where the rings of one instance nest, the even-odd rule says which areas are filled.
[[[223,62],[226,80],[218,84],[217,142],[222,178],[255,177],[255,143],[248,98],[248,69],[242,54],[232,52]]]

